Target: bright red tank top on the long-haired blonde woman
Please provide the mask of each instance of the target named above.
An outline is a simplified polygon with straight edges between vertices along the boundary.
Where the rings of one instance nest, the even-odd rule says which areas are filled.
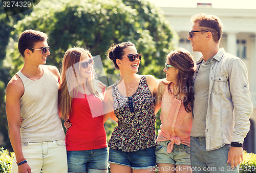
[[[86,96],[86,97],[84,97]],[[106,147],[106,132],[103,123],[103,103],[93,94],[72,100],[70,115],[72,126],[66,135],[66,147],[72,150],[90,150]]]

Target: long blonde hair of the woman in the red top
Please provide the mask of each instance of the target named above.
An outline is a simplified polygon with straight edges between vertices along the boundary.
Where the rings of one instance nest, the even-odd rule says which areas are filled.
[[[63,57],[62,68],[61,68],[61,84],[59,86],[59,109],[61,113],[61,118],[67,120],[70,113],[72,112],[72,99],[76,97],[78,93],[80,75],[80,60],[83,53],[87,53],[90,58],[93,58],[90,51],[84,48],[71,48],[68,49]],[[76,67],[77,68],[76,68]],[[87,78],[86,87],[89,91],[100,100],[103,100],[101,89],[95,87],[94,77],[95,72],[92,70],[92,76]]]

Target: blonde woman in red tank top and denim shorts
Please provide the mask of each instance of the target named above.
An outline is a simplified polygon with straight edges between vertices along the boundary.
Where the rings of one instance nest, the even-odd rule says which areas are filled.
[[[63,57],[59,109],[61,118],[70,122],[68,172],[108,172],[102,102],[105,86],[95,80],[93,64],[90,51],[83,48],[71,48]]]

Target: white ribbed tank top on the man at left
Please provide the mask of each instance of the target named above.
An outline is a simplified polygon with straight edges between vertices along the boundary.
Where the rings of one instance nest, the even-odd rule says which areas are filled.
[[[20,136],[24,142],[46,142],[65,139],[58,114],[58,81],[46,66],[38,80],[30,80],[22,72],[16,74],[24,84],[20,98],[20,116],[24,121]]]

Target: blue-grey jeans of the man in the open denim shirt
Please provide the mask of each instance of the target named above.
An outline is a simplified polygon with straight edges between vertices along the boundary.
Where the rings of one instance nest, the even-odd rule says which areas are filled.
[[[193,172],[239,172],[227,163],[229,145],[214,150],[206,150],[205,137],[190,138],[190,160]]]

